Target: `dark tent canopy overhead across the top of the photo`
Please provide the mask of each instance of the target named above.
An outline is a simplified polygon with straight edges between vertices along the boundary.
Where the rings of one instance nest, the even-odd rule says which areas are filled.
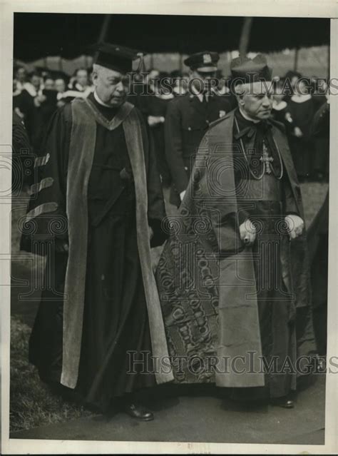
[[[14,14],[14,58],[73,59],[98,40],[104,14]],[[106,41],[141,47],[148,53],[190,54],[203,49],[238,49],[243,18],[112,14]],[[329,45],[329,19],[260,18],[252,22],[248,51]]]

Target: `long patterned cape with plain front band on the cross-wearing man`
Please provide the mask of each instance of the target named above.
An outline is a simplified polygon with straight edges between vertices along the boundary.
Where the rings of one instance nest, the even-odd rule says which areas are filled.
[[[215,121],[200,143],[178,216],[167,220],[170,237],[156,278],[175,382],[264,387],[254,253],[252,248],[245,248],[238,226],[231,221],[231,215],[241,210],[234,169],[245,174],[244,157],[233,136],[234,121],[235,111]],[[300,188],[285,134],[275,122],[272,122],[271,134],[280,151],[297,213],[304,219]],[[252,166],[255,160],[252,158]],[[297,355],[310,355],[316,348],[306,233],[290,241],[282,218],[281,222],[280,264],[273,267],[282,275],[292,304],[290,310],[293,308],[297,313],[296,319],[290,315],[294,329],[289,331],[290,337],[295,335],[297,340],[294,344]],[[267,264],[262,266],[267,267]],[[263,267],[261,271],[264,273]],[[285,327],[287,318],[286,315]],[[295,360],[294,355],[292,360]],[[293,389],[294,384],[291,387]],[[283,385],[283,388],[287,390],[289,386]],[[286,393],[277,388],[274,395]]]

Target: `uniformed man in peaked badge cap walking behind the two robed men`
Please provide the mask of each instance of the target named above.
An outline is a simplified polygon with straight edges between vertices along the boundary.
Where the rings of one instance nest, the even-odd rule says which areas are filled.
[[[217,87],[219,59],[217,52],[209,51],[185,59],[185,65],[190,67],[188,93],[168,105],[165,154],[173,178],[170,203],[176,206],[180,206],[188,186],[195,154],[209,123],[231,111],[230,100],[217,96],[213,90]]]

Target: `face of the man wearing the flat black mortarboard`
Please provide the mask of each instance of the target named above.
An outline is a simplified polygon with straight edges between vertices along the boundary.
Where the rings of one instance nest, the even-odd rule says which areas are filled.
[[[129,88],[128,75],[97,66],[93,71],[93,83],[96,93],[103,103],[118,107],[126,101]]]

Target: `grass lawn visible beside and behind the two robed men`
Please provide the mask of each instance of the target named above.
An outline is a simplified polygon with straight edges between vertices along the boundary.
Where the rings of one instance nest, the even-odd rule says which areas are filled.
[[[305,221],[311,223],[319,210],[327,193],[327,184],[302,184]],[[19,251],[19,230],[17,221],[25,213],[22,203],[13,203],[12,218],[12,245],[13,252]],[[173,207],[168,213],[173,213]],[[158,258],[160,250],[156,249]],[[25,265],[23,258],[23,265]],[[27,263],[30,264],[30,263]],[[14,308],[12,303],[12,308]],[[61,397],[54,395],[40,382],[35,368],[28,363],[28,342],[31,328],[24,324],[16,315],[11,318],[11,431],[30,429],[41,425],[66,422],[81,416],[90,415],[74,403],[65,402]]]

